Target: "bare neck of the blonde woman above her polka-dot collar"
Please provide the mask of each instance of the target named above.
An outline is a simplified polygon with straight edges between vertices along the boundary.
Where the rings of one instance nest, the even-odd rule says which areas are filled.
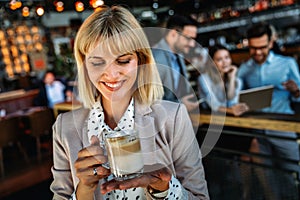
[[[109,101],[102,99],[102,107],[104,111],[104,121],[112,129],[117,127],[118,122],[124,115],[131,99],[121,101]]]

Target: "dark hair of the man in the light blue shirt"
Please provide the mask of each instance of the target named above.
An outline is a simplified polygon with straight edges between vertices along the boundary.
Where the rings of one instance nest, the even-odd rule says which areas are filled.
[[[270,41],[271,37],[272,37],[272,30],[271,30],[269,24],[266,24],[266,23],[263,23],[263,22],[258,23],[258,24],[254,24],[253,26],[251,26],[247,30],[247,38],[248,39],[261,37],[265,34],[268,35],[268,39]]]

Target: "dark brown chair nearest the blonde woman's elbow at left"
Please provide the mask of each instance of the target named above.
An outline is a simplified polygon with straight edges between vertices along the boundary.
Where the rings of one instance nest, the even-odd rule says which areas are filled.
[[[41,161],[41,137],[52,134],[54,114],[50,108],[41,108],[25,116],[28,130],[27,133],[36,139],[37,159]]]

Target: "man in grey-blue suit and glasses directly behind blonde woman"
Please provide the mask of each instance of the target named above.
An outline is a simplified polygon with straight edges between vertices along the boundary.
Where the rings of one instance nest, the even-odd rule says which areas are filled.
[[[199,108],[184,60],[184,55],[195,47],[197,26],[197,21],[190,17],[174,15],[167,22],[164,37],[152,48],[164,86],[164,99],[180,101],[188,111]]]

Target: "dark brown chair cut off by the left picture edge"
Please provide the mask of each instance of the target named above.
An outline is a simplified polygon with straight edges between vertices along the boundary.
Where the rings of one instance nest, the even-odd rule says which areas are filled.
[[[3,162],[3,147],[9,146],[12,143],[18,145],[19,150],[24,156],[24,159],[29,163],[29,158],[20,142],[22,130],[19,126],[19,117],[11,117],[0,120],[0,171],[1,177],[4,177],[4,162]]]

